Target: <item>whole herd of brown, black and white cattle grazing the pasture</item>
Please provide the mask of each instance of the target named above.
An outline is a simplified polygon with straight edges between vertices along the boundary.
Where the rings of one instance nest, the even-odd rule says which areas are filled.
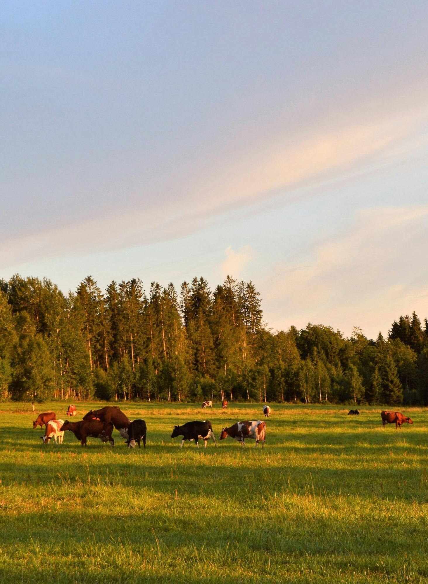
[[[202,408],[212,408],[212,401],[205,401]],[[222,402],[222,408],[227,408],[227,401]],[[271,415],[271,408],[268,405],[263,406],[263,413],[265,418]],[[351,409],[348,415],[359,415],[357,409]],[[74,405],[68,406],[67,416],[75,416],[76,408]],[[395,427],[401,429],[403,423],[413,424],[413,420],[403,416],[400,412],[381,412],[382,424],[395,423]],[[37,426],[45,427],[44,435],[41,436],[43,444],[49,443],[53,438],[56,443],[63,443],[65,430],[73,432],[74,436],[81,441],[82,446],[86,445],[88,437],[99,438],[102,442],[108,442],[112,447],[115,440],[112,437],[113,429],[118,430],[120,436],[125,440],[129,448],[135,448],[136,444],[141,448],[141,440],[143,446],[146,448],[147,426],[146,422],[141,419],[133,420],[132,422],[127,418],[125,413],[120,411],[118,406],[105,406],[98,410],[90,410],[83,416],[80,422],[71,422],[67,420],[56,419],[55,412],[44,412],[37,416],[33,422],[33,429]],[[182,448],[186,440],[195,441],[199,448],[199,440],[203,440],[206,448],[206,443],[209,439],[213,439],[215,446],[217,441],[215,439],[211,422],[187,422],[182,426],[174,426],[171,438],[182,436]],[[245,446],[245,439],[250,438],[256,440],[256,446],[261,442],[261,447],[264,447],[266,439],[266,423],[261,420],[254,420],[250,422],[236,422],[228,428],[223,428],[220,433],[220,440],[224,440],[229,436],[237,440],[242,447]]]

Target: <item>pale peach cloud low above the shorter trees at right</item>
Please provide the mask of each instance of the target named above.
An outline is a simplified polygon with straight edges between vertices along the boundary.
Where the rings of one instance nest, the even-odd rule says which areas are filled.
[[[401,314],[428,315],[427,229],[428,206],[360,211],[351,231],[278,268],[265,284],[268,322],[330,324],[347,334],[361,326],[375,336]]]

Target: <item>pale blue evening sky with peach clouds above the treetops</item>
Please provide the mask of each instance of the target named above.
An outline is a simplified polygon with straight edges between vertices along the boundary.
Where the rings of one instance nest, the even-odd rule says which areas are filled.
[[[0,278],[252,280],[272,331],[428,317],[426,1],[0,7]]]

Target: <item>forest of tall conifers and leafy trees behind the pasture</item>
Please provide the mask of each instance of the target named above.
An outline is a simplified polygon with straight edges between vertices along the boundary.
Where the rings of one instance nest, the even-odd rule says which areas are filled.
[[[1,399],[428,405],[428,322],[416,313],[388,337],[331,326],[272,331],[250,281],[202,277],[103,293],[50,280],[0,280]]]

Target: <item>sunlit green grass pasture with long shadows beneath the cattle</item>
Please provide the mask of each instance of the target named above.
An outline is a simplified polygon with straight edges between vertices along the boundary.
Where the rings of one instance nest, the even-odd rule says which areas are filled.
[[[146,420],[146,450],[116,430],[113,450],[70,432],[42,446],[29,405],[0,404],[0,582],[428,581],[426,409],[397,431],[381,408],[274,405],[264,450],[204,451],[180,450],[174,424],[209,419],[218,438],[261,405],[121,408]]]

